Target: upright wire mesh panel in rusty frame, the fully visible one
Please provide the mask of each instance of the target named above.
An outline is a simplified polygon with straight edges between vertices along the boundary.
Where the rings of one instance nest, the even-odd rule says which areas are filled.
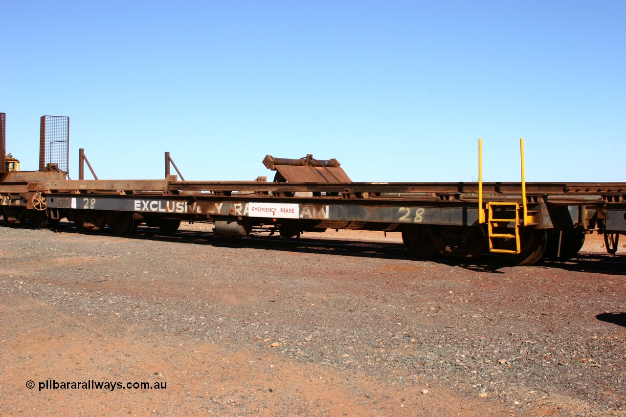
[[[41,116],[39,130],[39,169],[56,163],[59,170],[69,172],[69,117]]]

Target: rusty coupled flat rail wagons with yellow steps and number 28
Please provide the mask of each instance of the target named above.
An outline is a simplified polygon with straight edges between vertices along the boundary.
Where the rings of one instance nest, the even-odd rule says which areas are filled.
[[[0,210],[13,225],[46,227],[65,217],[81,230],[108,226],[121,235],[140,224],[170,233],[181,222],[210,222],[215,234],[232,237],[259,228],[285,238],[327,229],[401,232],[415,257],[491,252],[514,265],[568,259],[597,232],[615,254],[626,234],[626,183],[525,182],[523,147],[521,156],[521,182],[352,182],[337,160],[312,155],[267,155],[272,182],[211,182],[170,175],[170,164],[178,168],[168,153],[161,180],[85,180],[80,150],[78,180],[54,163],[0,173]]]

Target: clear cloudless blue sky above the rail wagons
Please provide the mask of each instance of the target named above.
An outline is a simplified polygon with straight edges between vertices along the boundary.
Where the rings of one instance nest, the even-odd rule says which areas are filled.
[[[70,175],[626,182],[626,2],[28,1],[0,8],[8,151],[70,117]]]

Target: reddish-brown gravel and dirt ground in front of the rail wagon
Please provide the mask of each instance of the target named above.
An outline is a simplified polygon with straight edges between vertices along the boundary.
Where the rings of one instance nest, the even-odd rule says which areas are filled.
[[[223,242],[0,225],[0,415],[626,415],[615,265]]]

